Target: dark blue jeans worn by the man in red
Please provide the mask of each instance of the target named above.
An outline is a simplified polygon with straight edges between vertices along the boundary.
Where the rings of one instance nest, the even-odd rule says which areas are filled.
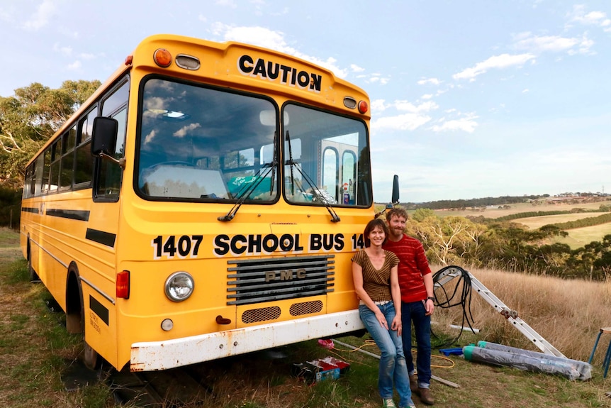
[[[418,387],[428,388],[431,385],[431,316],[426,316],[425,305],[420,302],[401,302],[401,320],[403,322],[403,351],[408,363],[408,373],[414,372],[412,358],[412,322],[416,335],[416,368]]]

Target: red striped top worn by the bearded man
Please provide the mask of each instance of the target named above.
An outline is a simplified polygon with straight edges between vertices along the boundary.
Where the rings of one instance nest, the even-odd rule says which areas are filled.
[[[424,275],[431,273],[422,243],[405,233],[400,241],[386,240],[385,250],[391,250],[399,258],[398,277],[401,302],[420,302],[427,298]]]

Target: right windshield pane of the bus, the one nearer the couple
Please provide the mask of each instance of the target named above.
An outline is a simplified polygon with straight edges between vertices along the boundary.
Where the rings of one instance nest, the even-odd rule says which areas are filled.
[[[371,205],[369,148],[363,122],[296,104],[286,104],[282,117],[288,202]]]

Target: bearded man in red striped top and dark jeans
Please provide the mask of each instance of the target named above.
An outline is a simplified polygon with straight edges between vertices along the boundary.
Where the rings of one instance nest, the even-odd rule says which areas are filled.
[[[408,212],[400,207],[386,211],[389,234],[383,248],[392,251],[399,258],[403,350],[408,364],[410,388],[420,395],[420,401],[432,405],[435,403],[430,393],[431,315],[435,308],[433,277],[422,243],[403,233],[407,219]],[[412,322],[417,343],[417,377],[411,353]]]

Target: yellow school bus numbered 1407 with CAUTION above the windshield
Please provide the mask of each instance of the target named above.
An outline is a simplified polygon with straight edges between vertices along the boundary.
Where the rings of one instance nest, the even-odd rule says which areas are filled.
[[[146,38],[26,168],[30,277],[84,360],[164,370],[363,329],[366,93],[242,43]]]

